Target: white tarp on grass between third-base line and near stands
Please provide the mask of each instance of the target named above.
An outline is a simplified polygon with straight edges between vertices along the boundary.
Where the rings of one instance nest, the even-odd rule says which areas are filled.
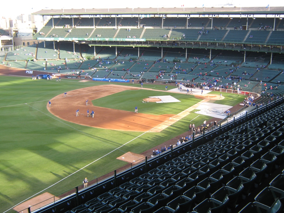
[[[223,119],[226,118],[226,110],[229,110],[230,108],[232,107],[228,105],[205,102],[196,108],[196,110],[200,111],[195,113]]]

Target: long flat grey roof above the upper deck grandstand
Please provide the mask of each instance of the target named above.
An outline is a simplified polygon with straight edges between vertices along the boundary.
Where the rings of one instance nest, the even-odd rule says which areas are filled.
[[[221,7],[221,8],[106,8],[40,10],[33,15],[121,15],[121,14],[284,14],[284,7]]]

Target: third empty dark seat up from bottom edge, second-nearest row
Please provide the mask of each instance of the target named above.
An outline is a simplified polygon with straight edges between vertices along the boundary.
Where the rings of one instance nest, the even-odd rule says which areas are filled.
[[[231,181],[229,181],[226,185],[237,190],[241,184],[244,185],[244,189],[242,191],[242,194],[248,195],[248,192],[250,191],[251,186],[253,185],[255,181],[256,175],[253,173],[251,175],[250,179],[242,176],[236,176]]]

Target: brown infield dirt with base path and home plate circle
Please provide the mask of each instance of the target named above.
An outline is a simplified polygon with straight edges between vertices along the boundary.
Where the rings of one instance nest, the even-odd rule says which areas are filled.
[[[121,85],[101,85],[71,90],[68,91],[67,97],[63,97],[63,94],[61,94],[51,99],[52,107],[47,107],[47,109],[58,118],[84,126],[121,131],[160,132],[173,123],[179,121],[188,115],[190,111],[199,106],[199,103],[197,103],[178,115],[151,115],[143,113],[135,114],[134,109],[133,112],[129,112],[124,110],[96,107],[92,105],[91,101],[88,102],[90,105],[86,105],[87,99],[94,100],[125,90],[140,89],[142,88],[133,88]],[[218,100],[219,97],[217,95],[207,94],[204,96],[198,96],[198,98],[203,99],[201,102],[207,102],[209,100]],[[76,110],[78,109],[79,116],[76,117]],[[95,112],[94,118],[91,116],[87,117],[86,112],[88,109],[90,112],[92,110]]]

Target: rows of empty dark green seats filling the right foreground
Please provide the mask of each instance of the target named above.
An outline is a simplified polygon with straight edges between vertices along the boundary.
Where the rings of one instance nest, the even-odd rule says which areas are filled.
[[[229,131],[212,132],[216,135],[213,140],[198,141],[201,145],[185,142],[171,157],[156,157],[146,173],[139,167],[131,170],[132,176],[118,175],[116,187],[104,184],[109,190],[96,191],[96,196],[94,189],[101,186],[87,188],[80,196],[81,205],[73,204],[69,213],[232,212],[246,204],[240,213],[257,212],[257,208],[280,212],[284,196],[283,106],[268,111],[260,108],[259,116],[244,116]],[[258,195],[254,198],[253,194]],[[253,205],[248,203],[253,199]]]

